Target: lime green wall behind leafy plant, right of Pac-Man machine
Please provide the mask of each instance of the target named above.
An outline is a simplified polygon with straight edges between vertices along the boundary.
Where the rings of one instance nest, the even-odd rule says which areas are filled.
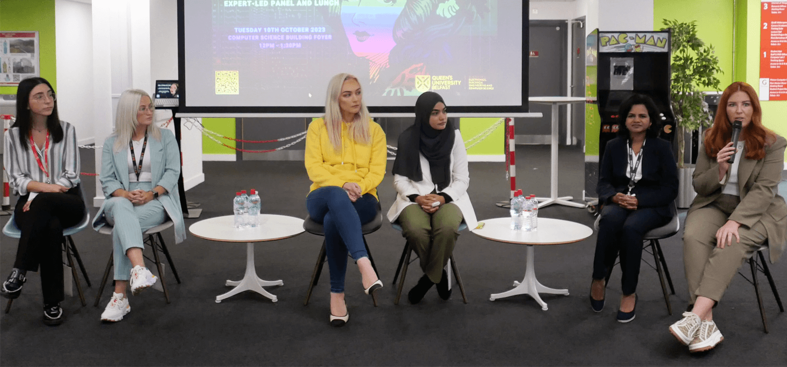
[[[733,0],[653,0],[654,30],[664,28],[664,19],[696,20],[697,36],[719,57],[723,73],[716,77],[722,90],[733,83],[733,18]]]

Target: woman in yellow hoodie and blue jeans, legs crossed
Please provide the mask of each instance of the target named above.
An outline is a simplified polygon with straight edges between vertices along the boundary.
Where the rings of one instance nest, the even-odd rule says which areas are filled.
[[[386,172],[386,134],[371,120],[358,79],[338,74],[328,84],[325,116],[309,125],[305,165],[312,186],[309,216],[323,224],[331,273],[331,325],[349,320],[344,299],[347,254],[358,264],[364,292],[377,306],[382,288],[360,226],[378,215],[377,185]]]

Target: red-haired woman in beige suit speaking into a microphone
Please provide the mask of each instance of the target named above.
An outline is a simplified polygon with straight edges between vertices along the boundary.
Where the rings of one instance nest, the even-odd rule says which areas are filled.
[[[722,94],[696,160],[697,196],[683,233],[693,306],[670,326],[672,335],[691,352],[710,350],[724,339],[713,321],[713,307],[741,264],[766,240],[774,263],[787,244],[787,204],[777,187],[787,141],[763,127],[762,116],[754,88],[732,83]],[[737,122],[742,126],[740,137],[731,141]],[[728,163],[733,156],[733,163]]]

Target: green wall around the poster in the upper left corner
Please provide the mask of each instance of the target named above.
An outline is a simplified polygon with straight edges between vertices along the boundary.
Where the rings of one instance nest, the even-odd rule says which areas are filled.
[[[39,31],[40,75],[57,92],[54,0],[0,0],[0,31]],[[0,86],[0,94],[17,94],[17,87]]]

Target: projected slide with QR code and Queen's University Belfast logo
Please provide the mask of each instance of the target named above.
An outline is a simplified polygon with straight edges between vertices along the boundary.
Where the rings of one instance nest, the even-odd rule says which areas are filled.
[[[520,0],[184,0],[187,107],[319,107],[357,75],[369,106],[433,90],[453,106],[519,106]],[[527,75],[525,75],[527,77]]]

